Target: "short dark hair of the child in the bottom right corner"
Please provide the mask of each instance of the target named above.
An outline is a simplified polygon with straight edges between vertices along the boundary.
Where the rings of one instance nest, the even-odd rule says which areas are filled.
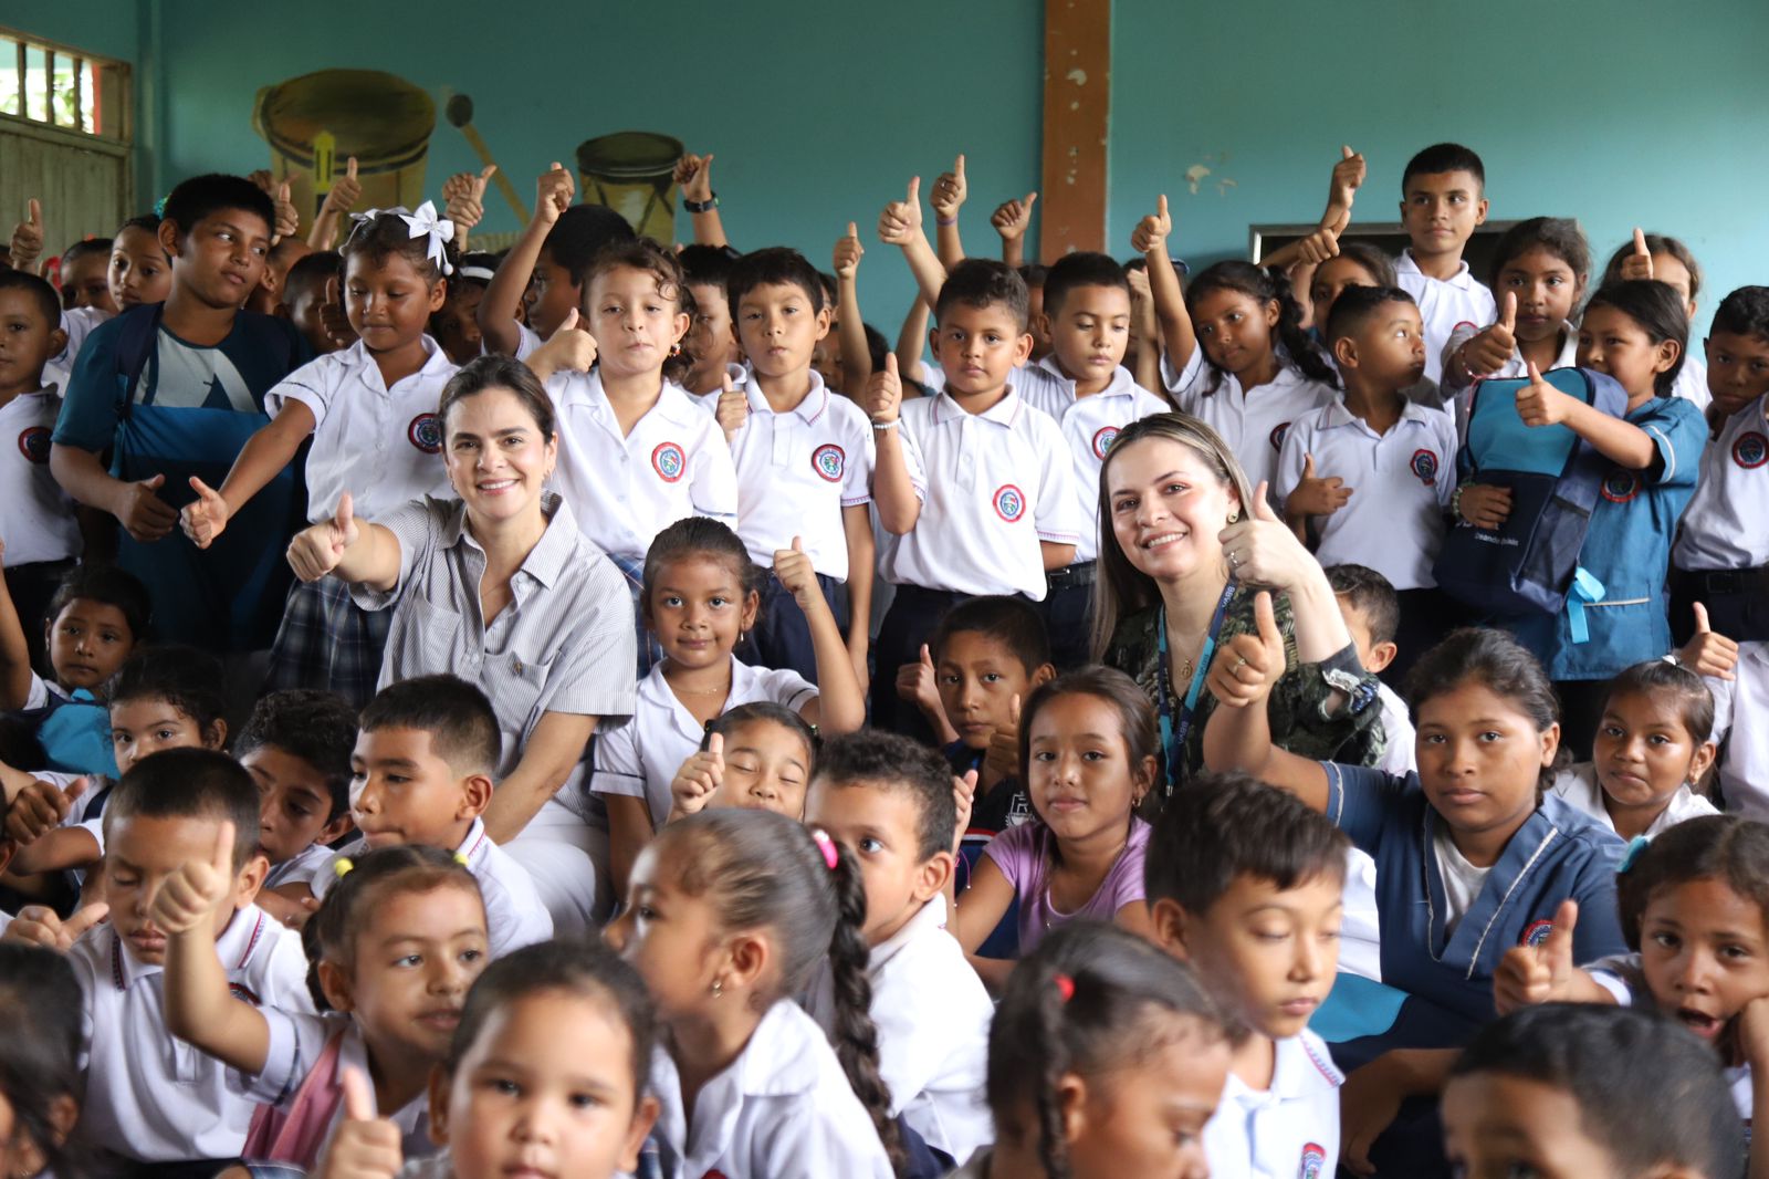
[[[1650,1060],[1650,1078],[1642,1073]],[[1488,1023],[1449,1069],[1558,1089],[1578,1124],[1615,1160],[1617,1179],[1686,1167],[1730,1179],[1744,1128],[1714,1052],[1661,1014],[1608,1004],[1541,1004]]]

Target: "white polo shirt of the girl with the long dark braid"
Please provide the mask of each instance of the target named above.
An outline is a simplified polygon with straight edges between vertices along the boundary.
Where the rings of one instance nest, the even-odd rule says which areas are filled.
[[[835,1048],[791,998],[768,1009],[738,1059],[701,1087],[690,1131],[681,1075],[660,1046],[651,1131],[665,1175],[893,1179],[890,1158]]]

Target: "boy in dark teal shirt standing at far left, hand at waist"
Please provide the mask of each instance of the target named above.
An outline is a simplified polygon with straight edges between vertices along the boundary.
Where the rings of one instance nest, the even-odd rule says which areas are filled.
[[[302,524],[283,473],[209,549],[177,529],[191,480],[226,478],[271,420],[264,395],[311,358],[292,324],[241,310],[264,281],[274,218],[244,177],[172,189],[159,223],[172,294],[92,329],[50,448],[57,482],[122,526],[117,561],[149,586],[159,637],[221,651],[269,648],[290,582],[281,540]]]

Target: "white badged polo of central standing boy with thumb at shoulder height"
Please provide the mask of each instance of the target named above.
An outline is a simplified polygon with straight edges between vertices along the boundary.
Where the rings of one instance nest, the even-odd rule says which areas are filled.
[[[1088,526],[1076,510],[1074,460],[1056,421],[1012,386],[980,414],[950,393],[907,400],[899,414],[922,515],[907,535],[884,538],[884,579],[1042,602],[1038,542],[1079,545]]]

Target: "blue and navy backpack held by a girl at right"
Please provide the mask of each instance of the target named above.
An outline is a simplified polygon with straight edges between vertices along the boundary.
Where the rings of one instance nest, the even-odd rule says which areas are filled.
[[[1627,412],[1627,393],[1590,368],[1551,368],[1543,381],[1610,416]],[[1603,584],[1578,566],[1580,549],[1604,476],[1615,466],[1571,427],[1527,427],[1518,393],[1527,377],[1474,386],[1468,428],[1458,455],[1461,482],[1511,489],[1511,515],[1498,529],[1458,520],[1444,536],[1433,575],[1454,598],[1489,614],[1571,613],[1583,641],[1585,604]]]

